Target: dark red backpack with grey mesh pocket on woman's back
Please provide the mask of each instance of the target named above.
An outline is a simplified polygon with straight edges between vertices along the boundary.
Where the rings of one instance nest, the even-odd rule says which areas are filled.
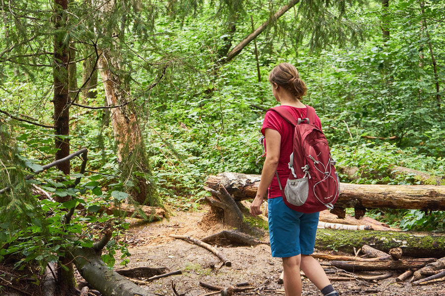
[[[315,110],[306,107],[308,117],[298,120],[281,106],[269,110],[277,112],[294,126],[293,152],[289,161],[291,172],[284,188],[275,173],[284,203],[298,212],[315,213],[334,207],[340,194],[340,182],[326,137],[313,124]]]

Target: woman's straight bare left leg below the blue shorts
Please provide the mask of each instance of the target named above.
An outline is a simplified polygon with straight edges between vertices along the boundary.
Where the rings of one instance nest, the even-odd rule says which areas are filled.
[[[301,255],[283,258],[284,291],[286,296],[301,296]]]

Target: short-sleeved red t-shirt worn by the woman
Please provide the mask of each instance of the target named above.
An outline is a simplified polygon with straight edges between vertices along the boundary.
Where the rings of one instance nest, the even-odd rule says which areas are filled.
[[[284,106],[287,111],[291,112],[295,118],[306,118],[308,113],[307,108],[296,108],[291,106]],[[320,118],[315,114],[315,126],[321,130]],[[281,143],[280,143],[280,159],[278,161],[278,167],[276,168],[278,176],[280,178],[281,186],[284,188],[286,186],[287,178],[290,174],[289,169],[289,157],[292,153],[292,140],[294,136],[294,130],[292,124],[287,122],[283,117],[281,117],[275,111],[267,111],[264,117],[263,126],[261,127],[261,133],[264,135],[264,131],[267,128],[271,128],[280,133]],[[266,140],[264,141],[264,147],[266,148]],[[278,181],[276,176],[273,177],[272,183],[269,186],[267,198],[275,198],[281,196],[280,187],[278,186]]]

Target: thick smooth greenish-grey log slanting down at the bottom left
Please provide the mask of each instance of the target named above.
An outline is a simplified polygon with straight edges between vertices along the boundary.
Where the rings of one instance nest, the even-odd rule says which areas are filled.
[[[92,248],[75,248],[72,255],[82,277],[103,296],[155,296],[110,269]]]

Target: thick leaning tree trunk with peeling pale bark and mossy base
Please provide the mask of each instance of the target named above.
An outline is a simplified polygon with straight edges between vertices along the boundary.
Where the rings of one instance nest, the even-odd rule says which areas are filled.
[[[109,16],[114,1],[103,1],[102,17]],[[117,29],[116,29],[117,30]],[[112,35],[113,32],[106,32]],[[111,47],[118,48],[117,41]],[[99,71],[103,80],[105,96],[109,106],[120,105],[131,100],[130,87],[123,77],[122,60],[113,48],[100,48]],[[157,206],[161,204],[158,192],[151,179],[151,169],[148,163],[145,145],[142,139],[139,123],[136,118],[133,103],[113,108],[111,124],[117,144],[117,156],[120,163],[123,180],[131,180],[134,187],[130,190],[131,197],[139,204]],[[135,172],[138,172],[135,174]],[[136,176],[137,175],[137,176]]]

